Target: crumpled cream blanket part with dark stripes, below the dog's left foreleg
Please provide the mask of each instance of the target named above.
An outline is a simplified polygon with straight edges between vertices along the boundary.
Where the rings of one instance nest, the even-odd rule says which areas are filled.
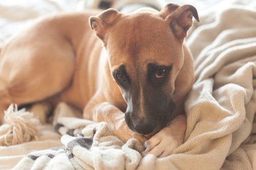
[[[137,139],[123,143],[106,123],[76,118],[77,110],[65,103],[54,115],[63,145],[32,152],[13,169],[135,169],[142,159],[142,144]]]

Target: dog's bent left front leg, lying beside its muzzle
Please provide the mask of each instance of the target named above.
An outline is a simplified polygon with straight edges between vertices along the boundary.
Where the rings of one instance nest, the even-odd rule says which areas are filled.
[[[126,142],[130,138],[137,138],[141,143],[144,143],[146,138],[129,129],[125,123],[124,113],[112,105],[111,103],[104,102],[94,107],[93,111],[94,122],[106,122],[114,135]]]

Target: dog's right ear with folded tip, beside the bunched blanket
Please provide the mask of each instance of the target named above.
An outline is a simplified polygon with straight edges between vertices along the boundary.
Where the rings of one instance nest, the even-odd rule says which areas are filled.
[[[182,41],[192,26],[193,16],[199,21],[197,9],[191,5],[168,4],[160,11],[160,15],[169,23],[175,37]]]

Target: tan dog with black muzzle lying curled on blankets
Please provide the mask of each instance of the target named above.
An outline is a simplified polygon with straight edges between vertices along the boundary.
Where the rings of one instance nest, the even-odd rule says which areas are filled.
[[[11,103],[62,101],[108,123],[123,141],[139,139],[143,156],[171,154],[183,142],[184,101],[195,79],[184,43],[193,16],[199,21],[191,5],[168,4],[37,20],[1,47],[2,123]]]

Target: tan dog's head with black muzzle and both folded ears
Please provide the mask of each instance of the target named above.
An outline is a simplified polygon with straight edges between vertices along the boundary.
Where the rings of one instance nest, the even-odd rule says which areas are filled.
[[[193,16],[199,20],[195,7],[169,4],[160,12],[122,14],[108,9],[90,17],[127,103],[130,129],[156,133],[169,122],[175,109],[175,80],[183,66],[183,40]]]

